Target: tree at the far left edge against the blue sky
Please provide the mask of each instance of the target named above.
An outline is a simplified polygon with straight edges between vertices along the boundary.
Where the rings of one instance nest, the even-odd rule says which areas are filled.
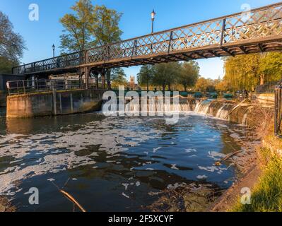
[[[23,57],[24,49],[23,37],[13,31],[8,16],[0,11],[0,72],[11,73],[11,68]]]

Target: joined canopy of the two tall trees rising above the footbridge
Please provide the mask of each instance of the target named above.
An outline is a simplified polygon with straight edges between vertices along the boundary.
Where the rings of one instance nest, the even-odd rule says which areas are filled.
[[[79,0],[71,9],[74,13],[60,19],[64,27],[60,47],[63,52],[78,52],[120,40],[122,13],[106,6],[93,6],[90,0]]]

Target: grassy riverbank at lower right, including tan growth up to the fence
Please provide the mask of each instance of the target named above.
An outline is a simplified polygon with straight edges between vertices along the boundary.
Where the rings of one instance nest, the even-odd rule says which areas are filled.
[[[269,131],[272,134],[273,130]],[[231,208],[235,212],[282,212],[282,141],[273,135],[264,138],[259,148],[262,176],[252,189],[251,204],[240,201]]]

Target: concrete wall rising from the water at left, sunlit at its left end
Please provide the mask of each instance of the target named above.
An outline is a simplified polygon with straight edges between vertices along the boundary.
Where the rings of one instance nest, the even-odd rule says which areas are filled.
[[[69,90],[7,97],[7,118],[76,114],[101,109],[104,90]]]

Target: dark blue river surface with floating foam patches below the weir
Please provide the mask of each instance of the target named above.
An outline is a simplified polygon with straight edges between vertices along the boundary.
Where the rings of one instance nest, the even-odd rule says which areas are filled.
[[[78,114],[37,119],[0,117],[0,192],[19,210],[65,210],[64,188],[88,211],[146,210],[152,194],[175,184],[227,189],[235,179],[230,162],[214,162],[240,150],[242,126],[183,115],[175,125],[153,117]],[[40,205],[28,204],[37,187]]]

